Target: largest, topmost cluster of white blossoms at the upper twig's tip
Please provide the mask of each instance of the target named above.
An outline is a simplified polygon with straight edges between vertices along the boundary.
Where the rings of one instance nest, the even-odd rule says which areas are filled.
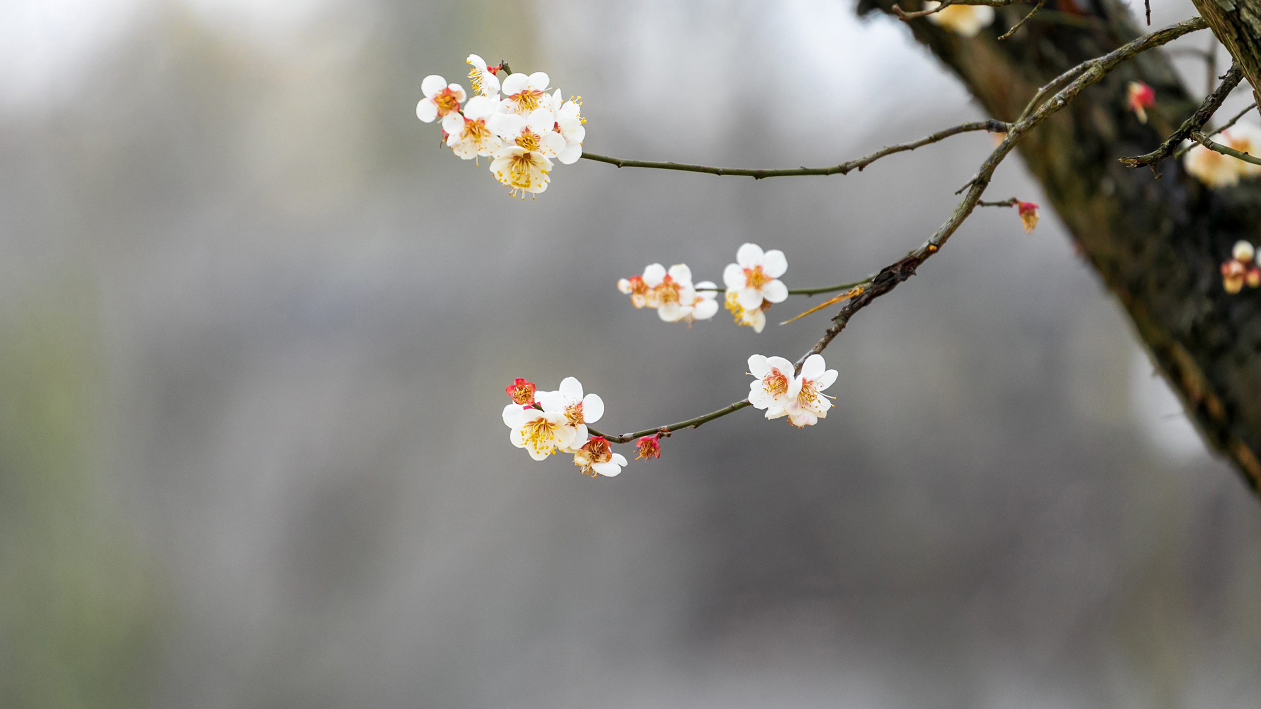
[[[507,73],[507,64],[492,67],[477,54],[468,64],[474,95],[430,74],[420,83],[416,117],[440,120],[443,141],[462,159],[489,158],[491,174],[511,194],[543,192],[555,161],[569,165],[583,155],[581,96],[566,101],[559,88],[549,93],[554,87],[543,72]],[[502,82],[501,73],[507,73]]]

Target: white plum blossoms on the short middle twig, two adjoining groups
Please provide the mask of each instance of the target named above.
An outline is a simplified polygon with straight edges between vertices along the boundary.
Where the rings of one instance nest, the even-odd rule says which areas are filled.
[[[723,303],[736,324],[762,332],[767,309],[788,298],[788,286],[779,280],[788,270],[788,260],[778,249],[763,251],[757,243],[745,243],[736,250],[735,261],[723,270]],[[667,323],[707,320],[718,313],[718,286],[712,281],[692,285],[692,270],[686,264],[668,271],[651,264],[643,275],[620,279],[618,290],[629,295],[636,308],[656,308]]]

